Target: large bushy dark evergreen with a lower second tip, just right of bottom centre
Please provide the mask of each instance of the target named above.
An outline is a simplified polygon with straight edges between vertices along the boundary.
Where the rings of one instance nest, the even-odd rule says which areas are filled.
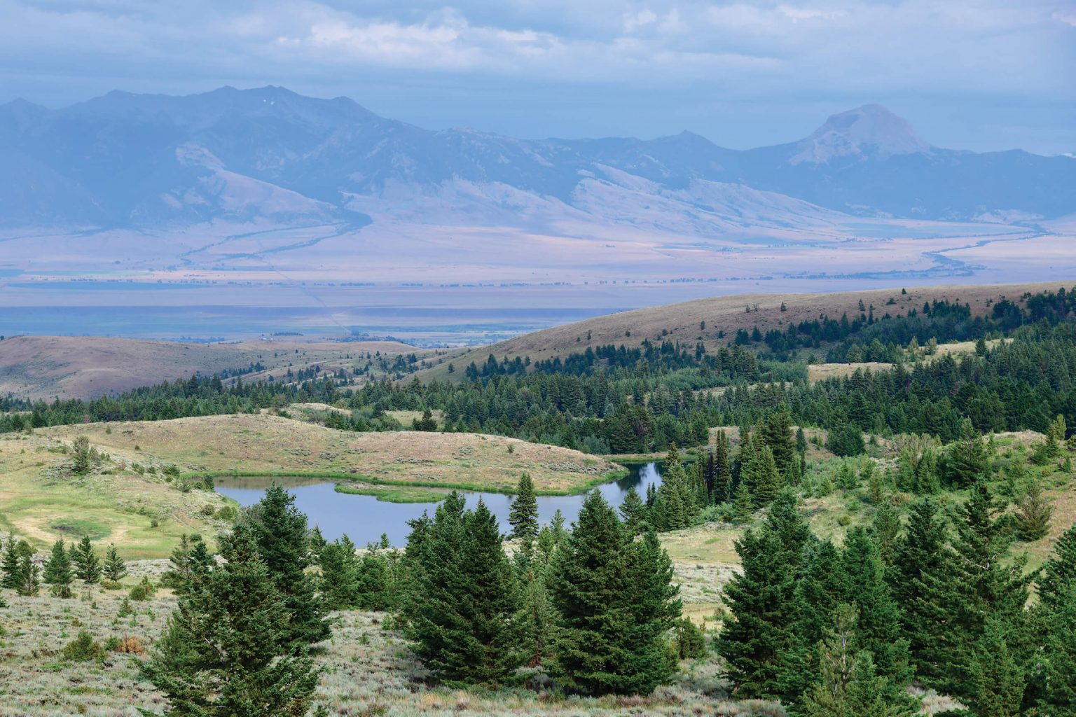
[[[558,680],[586,694],[648,693],[668,682],[665,634],[680,612],[670,580],[656,535],[632,542],[601,494],[589,494],[551,568]]]

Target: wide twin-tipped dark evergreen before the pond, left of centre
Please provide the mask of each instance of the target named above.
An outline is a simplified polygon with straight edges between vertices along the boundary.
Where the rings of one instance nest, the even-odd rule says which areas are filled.
[[[528,656],[496,518],[481,499],[473,511],[438,508],[428,543],[410,628],[415,654],[450,687],[504,683]]]

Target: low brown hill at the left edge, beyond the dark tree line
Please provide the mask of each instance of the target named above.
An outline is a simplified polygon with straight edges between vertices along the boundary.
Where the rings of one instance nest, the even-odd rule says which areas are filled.
[[[186,344],[104,336],[13,336],[0,341],[0,396],[96,398],[162,381],[265,367],[251,379],[314,364],[349,368],[359,353],[406,354],[396,342]]]

